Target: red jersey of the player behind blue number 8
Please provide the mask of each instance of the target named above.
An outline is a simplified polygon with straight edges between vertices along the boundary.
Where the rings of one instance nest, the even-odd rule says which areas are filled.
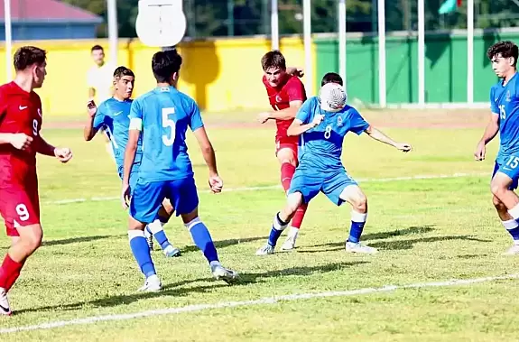
[[[304,85],[297,76],[289,75],[285,82],[278,87],[273,88],[269,85],[266,77],[263,77],[264,87],[268,95],[270,105],[273,110],[282,110],[290,107],[292,101],[306,101],[306,91]],[[286,131],[292,124],[292,120],[276,120],[277,132],[275,134],[276,142],[291,141],[293,143],[299,142],[297,136],[287,136]]]

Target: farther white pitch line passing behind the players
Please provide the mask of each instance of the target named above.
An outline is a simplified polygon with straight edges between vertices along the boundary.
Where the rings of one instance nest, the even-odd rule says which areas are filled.
[[[437,174],[437,175],[422,175],[422,176],[408,176],[408,177],[393,177],[393,178],[367,178],[359,179],[359,183],[382,183],[389,181],[398,180],[438,180],[448,178],[466,178],[466,177],[481,177],[487,176],[488,173],[453,173],[453,174]],[[241,192],[241,191],[258,191],[258,190],[270,190],[270,189],[282,189],[281,185],[264,185],[259,187],[241,187],[241,188],[229,188],[222,192]],[[209,192],[209,191],[207,191]],[[119,200],[118,197],[92,197],[89,199],[59,199],[45,201],[43,204],[70,204],[70,203],[82,203],[82,202],[105,202],[108,200]]]

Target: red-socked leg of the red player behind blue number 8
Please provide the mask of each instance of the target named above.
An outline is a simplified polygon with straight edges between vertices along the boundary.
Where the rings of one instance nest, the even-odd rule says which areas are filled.
[[[290,189],[290,184],[298,164],[297,154],[298,146],[295,143],[279,143],[276,151],[276,157],[281,165],[281,182],[285,193]],[[282,245],[283,250],[292,250],[295,247],[295,241],[299,235],[302,220],[308,208],[308,203],[301,203],[292,218],[292,225],[286,241]]]

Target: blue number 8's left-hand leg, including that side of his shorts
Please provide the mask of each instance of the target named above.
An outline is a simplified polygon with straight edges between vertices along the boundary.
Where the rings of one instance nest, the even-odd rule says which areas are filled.
[[[267,243],[256,251],[256,255],[273,254],[277,240],[286,229],[301,204],[309,203],[320,191],[320,177],[311,176],[310,171],[298,169],[288,190],[286,205],[273,217],[273,225]]]

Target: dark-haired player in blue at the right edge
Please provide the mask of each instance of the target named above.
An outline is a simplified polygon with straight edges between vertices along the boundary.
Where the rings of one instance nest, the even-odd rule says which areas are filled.
[[[513,42],[497,42],[487,51],[492,69],[500,80],[490,88],[492,116],[474,153],[477,161],[483,161],[487,143],[499,133],[500,147],[490,189],[497,215],[514,240],[514,245],[505,252],[508,255],[519,254],[519,197],[514,192],[519,180],[518,54]]]

